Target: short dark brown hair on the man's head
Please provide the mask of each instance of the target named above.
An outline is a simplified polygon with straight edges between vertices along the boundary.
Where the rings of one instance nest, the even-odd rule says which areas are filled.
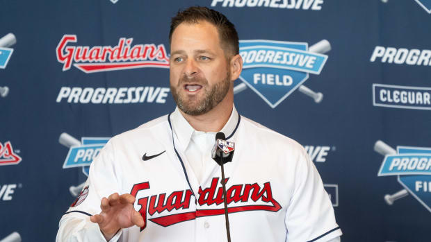
[[[197,24],[199,21],[208,21],[213,24],[218,30],[220,36],[220,44],[222,49],[229,51],[233,55],[239,53],[239,40],[238,33],[236,32],[234,24],[227,19],[221,12],[206,8],[193,6],[186,10],[177,12],[175,17],[172,17],[169,32],[169,43],[172,41],[172,33],[179,24],[186,22],[188,24]]]

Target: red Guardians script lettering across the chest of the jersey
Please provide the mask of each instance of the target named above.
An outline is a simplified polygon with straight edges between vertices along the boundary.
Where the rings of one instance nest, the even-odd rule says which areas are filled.
[[[225,179],[226,184],[227,182],[229,182],[229,178]],[[195,203],[209,209],[196,210],[190,207],[190,203],[193,204],[194,202],[192,200],[194,199],[192,197],[193,193],[190,190],[174,191],[170,195],[161,193],[140,198],[138,193],[149,189],[149,182],[134,184],[130,194],[136,198],[140,207],[139,213],[145,221],[145,225],[140,228],[140,231],[147,226],[147,214],[149,215],[149,221],[163,227],[199,217],[224,214],[225,210],[218,207],[223,203],[222,187],[218,184],[221,184],[219,178],[213,178],[210,187],[205,189],[200,187],[199,196]],[[229,186],[229,184],[227,185]],[[282,206],[273,198],[270,182],[265,182],[263,185],[258,183],[233,184],[227,187],[226,198],[227,204],[230,205],[227,209],[229,214],[255,210],[276,212],[282,209]],[[166,214],[166,211],[170,213],[160,216],[161,214]]]

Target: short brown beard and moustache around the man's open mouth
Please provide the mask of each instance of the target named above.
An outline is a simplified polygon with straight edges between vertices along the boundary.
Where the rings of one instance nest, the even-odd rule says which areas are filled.
[[[227,71],[223,80],[209,86],[206,78],[181,76],[177,87],[170,85],[170,92],[172,92],[174,101],[181,111],[188,115],[197,116],[206,114],[225,98],[231,85],[230,79],[230,72]],[[203,97],[188,96],[185,92],[181,92],[181,89],[184,89],[184,85],[187,83],[201,85],[202,89],[200,91],[204,92]]]

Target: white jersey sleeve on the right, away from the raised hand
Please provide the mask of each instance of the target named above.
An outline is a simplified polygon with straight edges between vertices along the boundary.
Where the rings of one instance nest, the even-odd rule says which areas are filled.
[[[325,242],[341,236],[320,175],[302,147],[295,169],[293,196],[286,211],[286,241]]]

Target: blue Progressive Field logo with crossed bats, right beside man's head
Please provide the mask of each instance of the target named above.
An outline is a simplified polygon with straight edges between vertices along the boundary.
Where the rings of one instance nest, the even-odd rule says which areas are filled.
[[[302,85],[309,74],[318,75],[327,60],[325,53],[331,46],[322,40],[310,48],[307,43],[273,40],[241,40],[240,55],[243,58],[243,81],[235,93],[250,87],[270,107],[277,107],[295,89],[320,103],[323,94],[315,93]]]

